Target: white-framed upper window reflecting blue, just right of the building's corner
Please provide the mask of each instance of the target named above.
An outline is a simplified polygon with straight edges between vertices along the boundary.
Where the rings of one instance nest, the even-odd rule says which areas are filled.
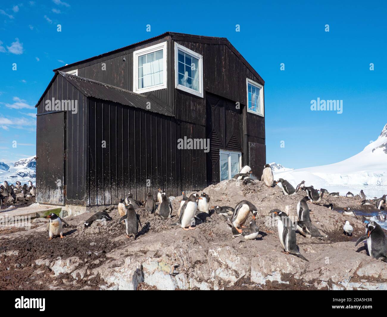
[[[203,98],[203,56],[177,43],[175,87]]]

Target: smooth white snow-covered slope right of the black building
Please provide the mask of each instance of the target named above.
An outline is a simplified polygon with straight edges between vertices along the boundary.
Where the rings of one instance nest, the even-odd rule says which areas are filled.
[[[292,184],[305,180],[315,188],[327,185],[387,185],[387,124],[376,141],[344,161],[291,171],[273,171]]]

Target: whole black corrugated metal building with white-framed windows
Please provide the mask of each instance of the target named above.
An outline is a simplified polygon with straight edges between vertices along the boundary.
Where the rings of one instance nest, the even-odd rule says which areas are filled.
[[[36,105],[37,202],[180,195],[246,164],[261,175],[264,81],[226,38],[167,32],[54,72]]]

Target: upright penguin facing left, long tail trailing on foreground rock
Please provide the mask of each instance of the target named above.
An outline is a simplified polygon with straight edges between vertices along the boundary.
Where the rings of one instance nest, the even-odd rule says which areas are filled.
[[[296,240],[296,230],[288,215],[279,209],[272,209],[270,214],[274,214],[274,219],[277,220],[279,241],[284,248],[284,252],[287,254],[294,254],[301,259],[308,261],[300,254],[300,248],[298,248]]]

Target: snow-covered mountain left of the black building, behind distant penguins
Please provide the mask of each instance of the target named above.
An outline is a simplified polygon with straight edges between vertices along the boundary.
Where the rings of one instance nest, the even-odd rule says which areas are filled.
[[[31,182],[35,183],[36,179],[36,161],[35,156],[31,156],[31,158],[20,159],[15,162],[14,166],[9,166],[8,169],[2,168],[2,162],[0,162],[0,182],[4,182],[5,180],[8,183],[14,184],[17,180],[21,183],[26,183],[31,180]],[[10,164],[11,165],[11,164]]]

